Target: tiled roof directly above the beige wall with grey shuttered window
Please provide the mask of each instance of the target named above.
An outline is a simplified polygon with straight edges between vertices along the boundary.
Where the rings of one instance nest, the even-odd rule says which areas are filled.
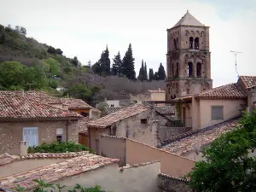
[[[243,99],[246,94],[236,84],[225,84],[212,90],[206,90],[196,96],[201,99]]]

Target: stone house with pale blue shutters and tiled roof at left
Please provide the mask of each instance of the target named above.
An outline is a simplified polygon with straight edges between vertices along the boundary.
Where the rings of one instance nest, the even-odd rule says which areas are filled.
[[[79,119],[78,113],[0,91],[0,154],[20,154],[20,141],[28,146],[55,140],[78,143]]]

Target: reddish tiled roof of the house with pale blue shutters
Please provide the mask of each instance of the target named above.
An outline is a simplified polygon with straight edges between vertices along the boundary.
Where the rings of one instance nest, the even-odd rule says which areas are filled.
[[[62,110],[10,91],[0,91],[0,120],[79,119],[78,113]]]

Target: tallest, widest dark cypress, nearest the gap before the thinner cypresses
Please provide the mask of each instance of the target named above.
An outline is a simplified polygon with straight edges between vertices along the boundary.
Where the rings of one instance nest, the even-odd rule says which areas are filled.
[[[129,44],[129,47],[123,58],[122,68],[123,68],[123,75],[125,75],[126,78],[131,80],[136,79],[136,73],[134,70],[134,58],[132,55],[131,44]]]

